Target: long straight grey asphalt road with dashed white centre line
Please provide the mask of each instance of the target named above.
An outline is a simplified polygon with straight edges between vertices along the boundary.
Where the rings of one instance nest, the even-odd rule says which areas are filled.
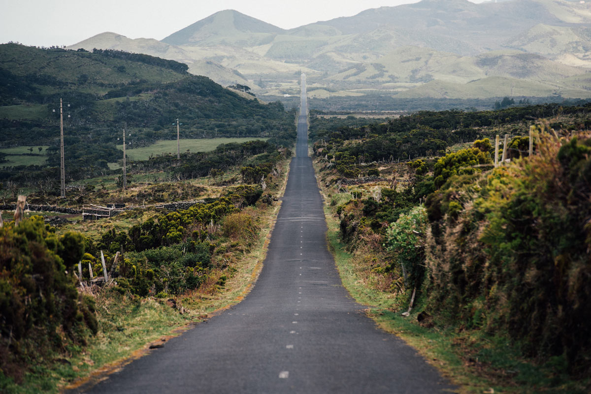
[[[322,200],[307,155],[305,94],[302,104],[297,156],[251,293],[85,392],[431,394],[452,389],[411,347],[376,328],[342,287],[326,248]]]

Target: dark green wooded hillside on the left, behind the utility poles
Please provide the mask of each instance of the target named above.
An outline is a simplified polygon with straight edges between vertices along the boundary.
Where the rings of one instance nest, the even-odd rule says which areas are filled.
[[[183,138],[258,136],[290,145],[293,116],[281,103],[242,97],[187,68],[121,51],[0,45],[0,147],[48,145],[47,164],[59,165],[60,98],[66,162],[77,168],[71,179],[108,171],[120,159],[122,129],[129,144],[146,146],[176,138],[175,119]]]

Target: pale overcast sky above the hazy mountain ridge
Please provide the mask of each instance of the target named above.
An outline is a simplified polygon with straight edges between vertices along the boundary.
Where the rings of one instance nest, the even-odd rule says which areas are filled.
[[[0,43],[72,45],[112,31],[162,40],[200,19],[236,9],[281,28],[349,17],[418,0],[0,0]],[[482,2],[483,0],[471,0]]]

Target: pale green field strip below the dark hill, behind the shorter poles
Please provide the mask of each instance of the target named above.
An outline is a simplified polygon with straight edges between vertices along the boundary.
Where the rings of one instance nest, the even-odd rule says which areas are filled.
[[[243,138],[212,138],[212,139],[181,139],[181,152],[187,152],[189,149],[191,152],[209,152],[210,150],[216,149],[220,144],[227,144],[230,142],[243,143],[252,140],[263,140],[267,138],[259,137],[243,137]],[[123,150],[123,145],[118,145],[118,149]],[[150,146],[144,146],[136,149],[126,149],[125,153],[131,160],[148,160],[151,155],[162,155],[163,153],[174,153],[177,152],[177,141],[158,141]]]

